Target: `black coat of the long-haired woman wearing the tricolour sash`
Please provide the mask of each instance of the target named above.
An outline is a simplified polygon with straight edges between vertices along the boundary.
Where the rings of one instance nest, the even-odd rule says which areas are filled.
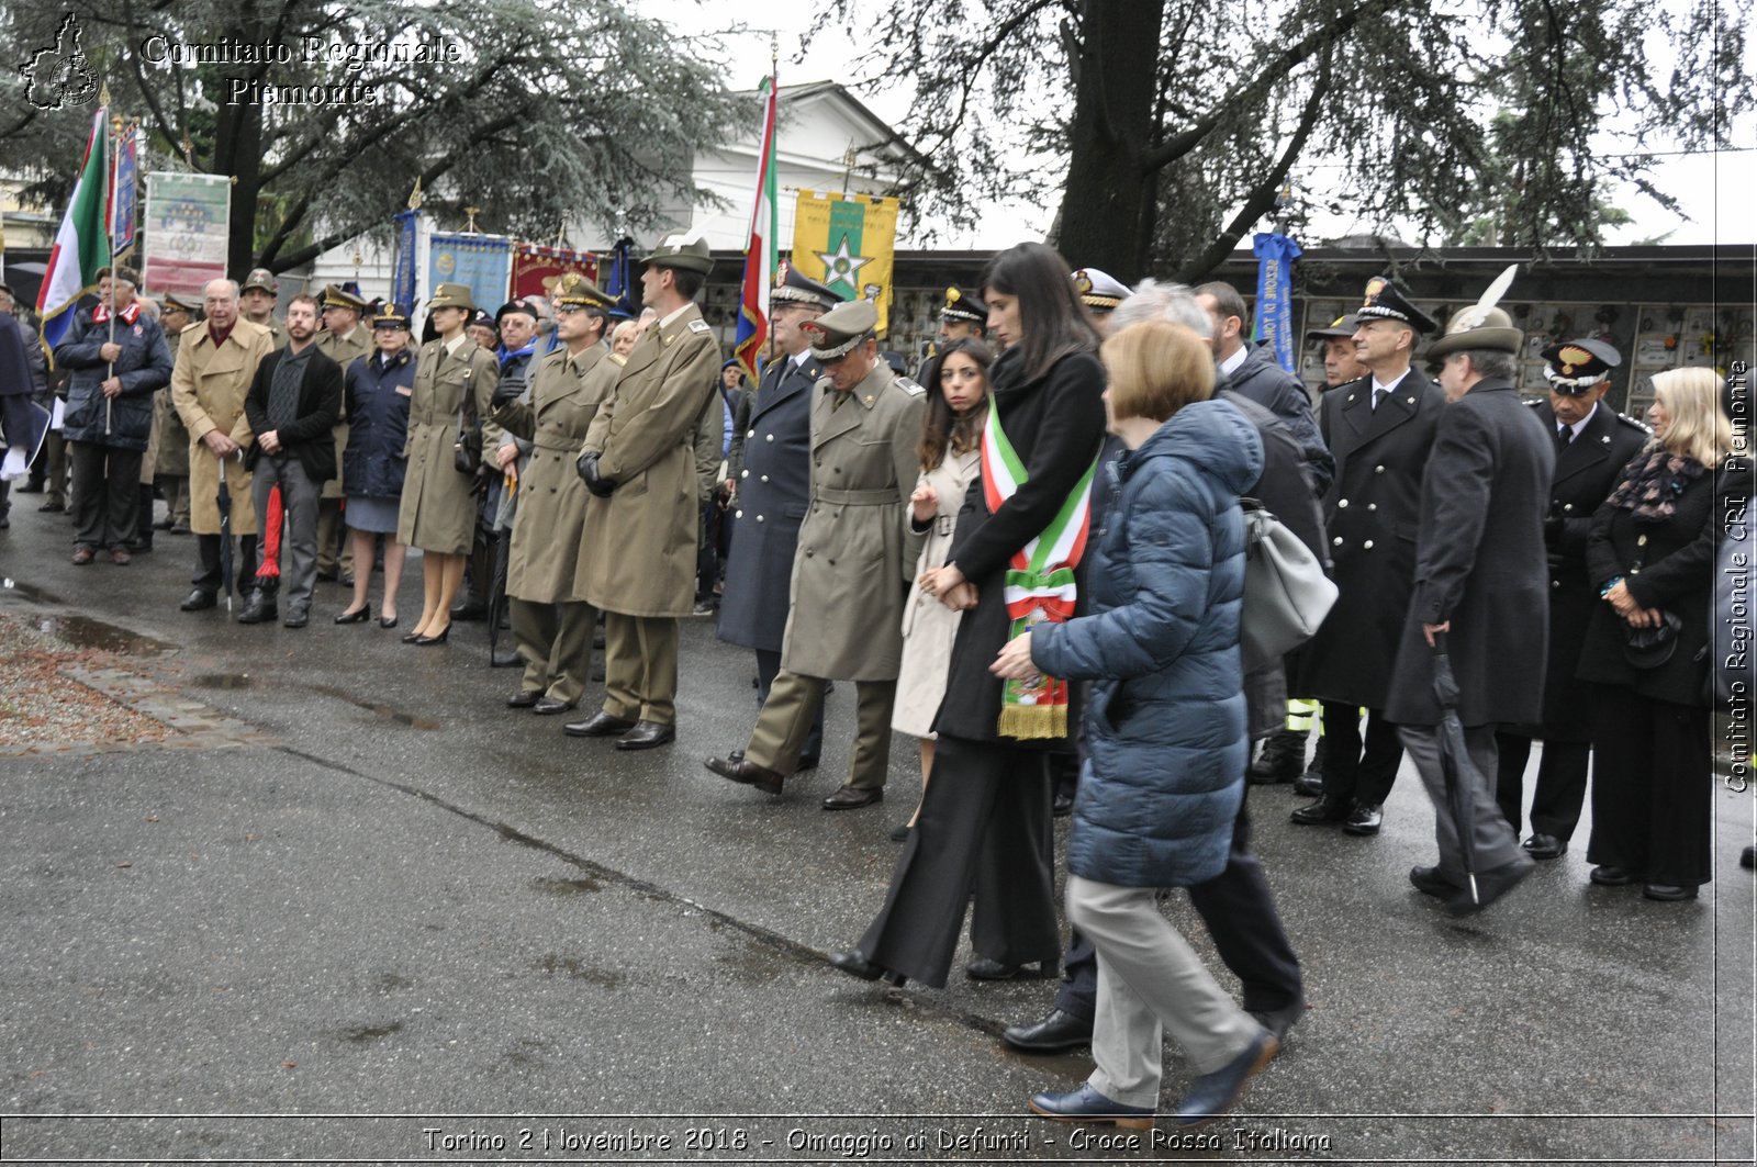
[[[1026,482],[998,511],[987,513],[977,473],[958,513],[947,562],[977,587],[977,606],[965,612],[952,641],[952,664],[935,731],[979,742],[1000,740],[1001,682],[987,671],[1010,640],[1012,620],[1001,591],[1014,552],[1042,534],[1103,445],[1103,366],[1093,353],[1063,357],[1037,381],[1024,381],[1024,353],[1010,348],[989,369],[989,401],[1007,441],[1024,462]],[[1088,545],[1091,557],[1095,547]],[[1086,612],[1084,561],[1075,573]],[[1079,685],[1072,687],[1068,724],[1077,724]],[[1009,740],[1010,742],[1010,740]],[[1012,743],[1012,742],[1010,742]],[[1063,749],[1063,738],[1017,742],[1019,747]]]

